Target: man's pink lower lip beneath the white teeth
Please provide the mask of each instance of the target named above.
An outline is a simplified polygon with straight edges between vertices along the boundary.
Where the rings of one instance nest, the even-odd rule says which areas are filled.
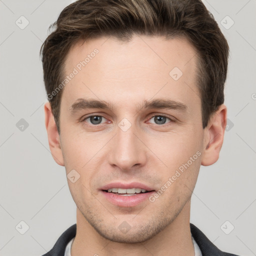
[[[139,193],[135,195],[119,195],[114,193],[105,192],[100,190],[103,196],[112,204],[122,207],[132,207],[139,203],[142,203],[146,199],[149,200],[149,196],[155,191],[150,191],[147,193]]]

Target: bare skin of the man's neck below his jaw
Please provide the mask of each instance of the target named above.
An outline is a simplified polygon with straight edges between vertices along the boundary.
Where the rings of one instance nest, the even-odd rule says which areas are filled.
[[[118,243],[100,236],[77,208],[76,235],[71,246],[71,256],[194,256],[189,219],[190,200],[178,216],[151,239],[137,244]]]

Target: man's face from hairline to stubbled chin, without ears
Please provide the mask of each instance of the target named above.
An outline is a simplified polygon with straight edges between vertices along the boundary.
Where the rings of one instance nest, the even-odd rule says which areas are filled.
[[[181,38],[100,38],[69,51],[65,74],[78,73],[61,98],[61,151],[66,174],[80,175],[68,180],[79,215],[103,237],[147,240],[189,204],[205,146],[196,61]],[[84,108],[82,99],[109,108]],[[132,188],[152,191],[127,195]]]

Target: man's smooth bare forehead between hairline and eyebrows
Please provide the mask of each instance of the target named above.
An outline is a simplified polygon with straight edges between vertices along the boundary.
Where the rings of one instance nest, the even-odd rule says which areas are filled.
[[[199,102],[197,55],[185,38],[134,35],[130,41],[102,37],[74,44],[64,63],[65,75],[75,71],[62,97],[69,106],[81,97],[125,101],[156,93]],[[62,100],[62,99],[61,99]],[[189,103],[189,102],[187,102]]]

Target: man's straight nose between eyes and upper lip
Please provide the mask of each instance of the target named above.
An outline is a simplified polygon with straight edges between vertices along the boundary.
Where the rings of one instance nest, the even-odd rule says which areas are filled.
[[[138,132],[135,124],[127,130],[120,127],[116,127],[116,135],[111,141],[109,163],[124,171],[141,167],[146,163],[146,146],[142,142],[142,133]]]

